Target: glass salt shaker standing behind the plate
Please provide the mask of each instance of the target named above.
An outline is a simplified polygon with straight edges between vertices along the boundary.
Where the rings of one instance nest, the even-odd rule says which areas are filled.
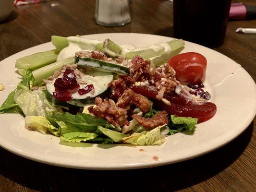
[[[131,21],[129,0],[96,0],[96,23],[103,26],[122,26]]]

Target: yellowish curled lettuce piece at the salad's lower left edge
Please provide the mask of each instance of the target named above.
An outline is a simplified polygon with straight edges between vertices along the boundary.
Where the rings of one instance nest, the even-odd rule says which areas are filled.
[[[47,131],[59,136],[59,129],[54,127],[45,116],[26,116],[25,127],[46,134]]]

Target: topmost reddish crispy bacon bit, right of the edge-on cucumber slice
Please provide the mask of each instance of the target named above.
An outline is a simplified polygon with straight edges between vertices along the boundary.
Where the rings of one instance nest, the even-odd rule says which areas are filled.
[[[150,60],[143,60],[139,56],[132,59],[132,66],[130,69],[130,76],[135,81],[145,81],[150,79]]]

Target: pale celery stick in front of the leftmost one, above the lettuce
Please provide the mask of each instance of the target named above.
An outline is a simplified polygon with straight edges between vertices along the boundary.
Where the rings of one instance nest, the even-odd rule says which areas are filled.
[[[47,79],[49,76],[52,76],[55,71],[61,69],[62,65],[71,65],[71,64],[74,64],[74,58],[67,58],[67,59],[49,64],[47,66],[41,67],[33,71],[32,74],[34,75],[34,78],[37,81],[37,84],[40,84],[43,82],[43,79]]]

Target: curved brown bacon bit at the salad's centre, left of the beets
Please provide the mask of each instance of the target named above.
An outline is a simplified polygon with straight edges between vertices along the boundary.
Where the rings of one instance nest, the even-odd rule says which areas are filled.
[[[132,89],[127,89],[118,99],[117,106],[125,108],[126,106],[130,106],[131,104],[139,107],[144,113],[146,113],[150,109],[150,102],[145,96],[134,93]]]

